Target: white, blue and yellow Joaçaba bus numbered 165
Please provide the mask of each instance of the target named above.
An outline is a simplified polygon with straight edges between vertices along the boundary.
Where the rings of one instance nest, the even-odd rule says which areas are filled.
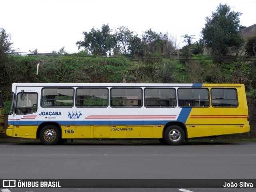
[[[66,139],[189,138],[250,131],[243,84],[14,83],[6,134]]]

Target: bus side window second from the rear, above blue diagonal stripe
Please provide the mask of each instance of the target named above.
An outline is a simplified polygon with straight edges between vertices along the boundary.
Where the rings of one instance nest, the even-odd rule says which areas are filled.
[[[180,107],[209,107],[209,90],[206,88],[179,88]]]

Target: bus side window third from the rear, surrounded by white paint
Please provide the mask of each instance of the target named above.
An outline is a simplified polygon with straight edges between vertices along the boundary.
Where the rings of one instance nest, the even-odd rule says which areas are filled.
[[[173,88],[145,88],[145,107],[176,107],[176,91]]]

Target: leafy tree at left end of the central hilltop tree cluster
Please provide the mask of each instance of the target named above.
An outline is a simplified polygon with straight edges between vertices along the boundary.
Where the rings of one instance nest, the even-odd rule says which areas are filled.
[[[111,48],[114,48],[116,40],[108,25],[102,24],[101,30],[92,28],[90,32],[83,32],[84,41],[76,42],[78,49],[84,47],[91,54],[106,55],[107,52],[111,55]]]

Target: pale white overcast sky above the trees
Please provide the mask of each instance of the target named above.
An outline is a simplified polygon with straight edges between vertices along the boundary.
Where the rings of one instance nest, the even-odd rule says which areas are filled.
[[[19,52],[52,52],[63,46],[69,53],[78,52],[82,32],[102,24],[111,29],[127,26],[139,36],[150,28],[168,32],[181,43],[185,34],[200,38],[206,17],[220,3],[243,13],[242,25],[256,24],[256,0],[1,0],[0,28],[11,34]]]

